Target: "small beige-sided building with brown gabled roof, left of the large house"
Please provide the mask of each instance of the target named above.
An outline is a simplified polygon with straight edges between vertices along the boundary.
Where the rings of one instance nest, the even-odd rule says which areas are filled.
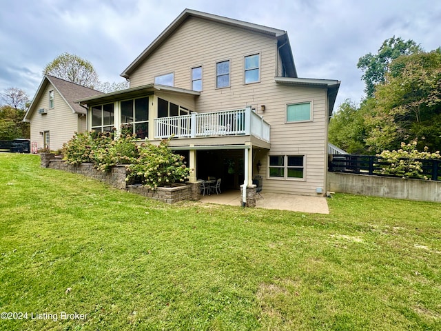
[[[23,119],[30,122],[32,152],[58,150],[74,132],[85,132],[87,110],[74,100],[96,94],[102,93],[45,75]]]

